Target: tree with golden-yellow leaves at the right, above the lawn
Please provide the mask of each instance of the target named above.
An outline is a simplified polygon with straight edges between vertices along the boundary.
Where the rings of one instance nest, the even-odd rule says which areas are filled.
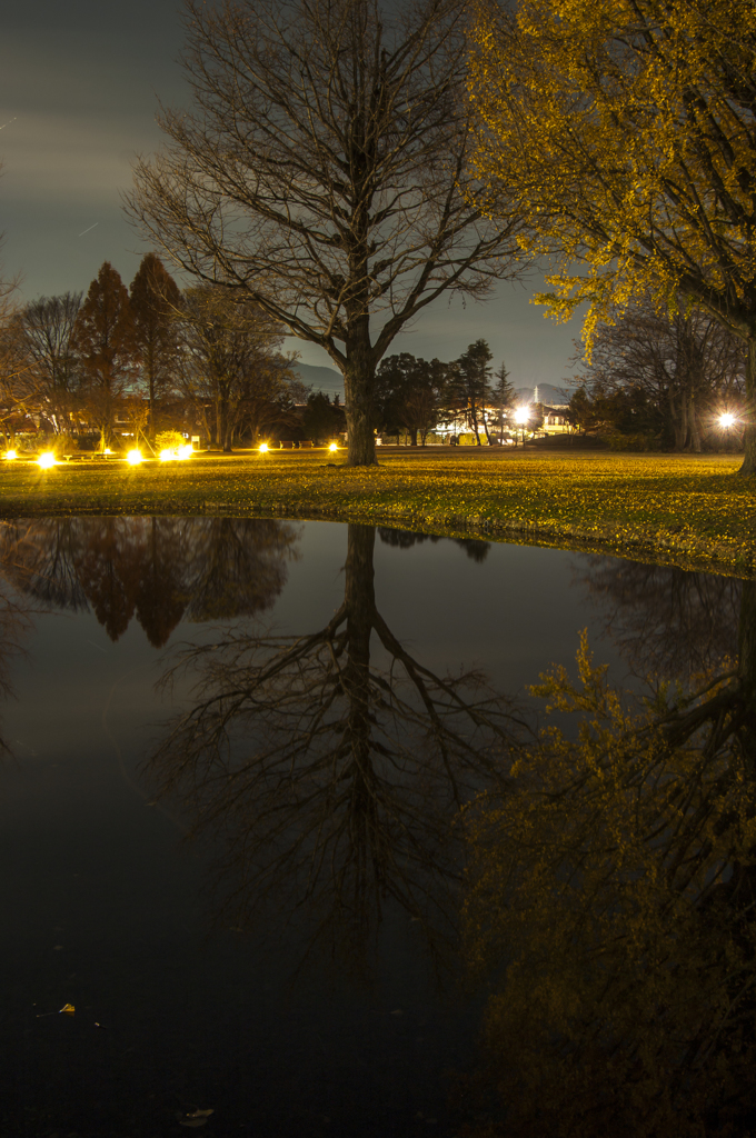
[[[476,165],[516,193],[586,338],[650,288],[747,345],[756,471],[756,8],[749,0],[482,0],[469,90]]]

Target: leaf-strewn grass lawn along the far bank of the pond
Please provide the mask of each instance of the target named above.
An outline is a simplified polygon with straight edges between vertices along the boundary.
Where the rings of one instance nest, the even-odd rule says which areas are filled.
[[[0,518],[203,514],[331,518],[454,536],[756,571],[756,477],[737,455],[384,450],[351,469],[324,451],[188,462],[2,463]]]

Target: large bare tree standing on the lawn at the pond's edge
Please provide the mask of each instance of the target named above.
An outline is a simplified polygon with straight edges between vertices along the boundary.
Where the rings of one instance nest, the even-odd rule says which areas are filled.
[[[187,0],[197,110],[164,110],[130,217],[344,374],[350,464],[376,462],[378,362],[444,292],[523,270],[516,211],[468,168],[462,0]],[[475,197],[475,205],[471,204]],[[519,207],[518,207],[519,208]]]

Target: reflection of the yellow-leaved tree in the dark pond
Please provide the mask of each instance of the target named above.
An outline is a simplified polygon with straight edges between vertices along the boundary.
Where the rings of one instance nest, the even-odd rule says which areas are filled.
[[[739,640],[737,671],[635,714],[583,645],[580,684],[539,690],[578,728],[547,728],[467,811],[466,948],[494,990],[470,1138],[753,1132],[753,580]]]

